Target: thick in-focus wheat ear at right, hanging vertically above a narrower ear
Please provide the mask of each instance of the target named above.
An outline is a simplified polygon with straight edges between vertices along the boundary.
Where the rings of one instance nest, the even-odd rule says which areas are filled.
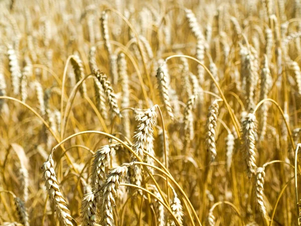
[[[244,159],[247,165],[249,178],[256,173],[256,146],[255,146],[255,115],[249,113],[242,123],[242,139],[244,144]]]

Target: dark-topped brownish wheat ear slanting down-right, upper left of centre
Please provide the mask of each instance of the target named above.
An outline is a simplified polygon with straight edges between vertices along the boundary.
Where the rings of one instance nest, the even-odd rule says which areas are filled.
[[[93,71],[94,75],[98,79],[98,81],[101,83],[102,88],[107,96],[108,102],[110,109],[112,111],[112,116],[118,116],[122,117],[120,114],[119,107],[117,105],[117,99],[116,99],[116,94],[114,93],[114,90],[111,86],[110,81],[107,79],[106,74],[100,72],[99,70]]]

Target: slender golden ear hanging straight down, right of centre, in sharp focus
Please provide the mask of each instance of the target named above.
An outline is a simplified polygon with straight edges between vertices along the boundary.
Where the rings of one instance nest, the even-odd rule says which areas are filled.
[[[216,152],[216,126],[217,126],[217,115],[218,115],[219,105],[218,100],[214,100],[209,106],[206,121],[206,147],[209,151],[210,162],[214,162],[217,152]]]

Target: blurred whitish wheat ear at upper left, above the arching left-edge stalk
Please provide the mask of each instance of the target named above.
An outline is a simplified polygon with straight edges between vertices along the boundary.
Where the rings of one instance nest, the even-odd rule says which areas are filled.
[[[20,79],[22,77],[18,58],[14,48],[10,45],[8,47],[9,65],[12,77],[12,86],[15,95],[20,93]]]

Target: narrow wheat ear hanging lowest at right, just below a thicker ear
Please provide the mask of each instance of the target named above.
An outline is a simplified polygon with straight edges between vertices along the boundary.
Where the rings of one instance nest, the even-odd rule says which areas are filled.
[[[264,185],[264,167],[258,167],[256,169],[256,181],[255,181],[255,198],[256,198],[256,205],[259,209],[260,213],[263,217],[267,217],[266,207],[263,201],[263,185]]]

